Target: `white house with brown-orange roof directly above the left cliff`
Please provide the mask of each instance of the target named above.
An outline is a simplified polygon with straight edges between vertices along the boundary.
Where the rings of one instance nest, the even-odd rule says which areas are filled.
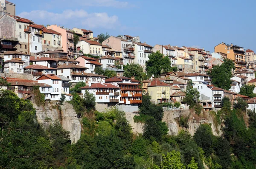
[[[61,89],[62,83],[61,78],[54,74],[43,74],[37,79],[38,83],[45,83],[47,85],[51,85],[52,87],[46,89],[42,88],[41,93],[47,92],[45,98],[50,100],[60,100],[61,99]],[[48,94],[49,93],[49,94]]]

